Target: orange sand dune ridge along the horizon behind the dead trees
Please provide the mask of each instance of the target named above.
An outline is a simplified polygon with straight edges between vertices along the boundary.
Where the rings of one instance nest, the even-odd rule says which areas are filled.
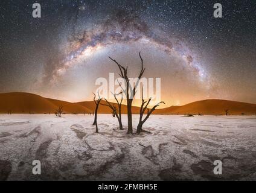
[[[69,103],[24,92],[0,93],[0,113],[54,113],[59,106],[63,106],[64,113],[88,114],[94,112],[95,103],[94,101]],[[196,101],[184,106],[156,109],[154,114],[225,115],[225,109],[229,110],[229,115],[256,114],[256,104],[228,100]],[[137,114],[139,107],[133,107],[132,111]],[[122,113],[126,112],[126,106],[123,105]],[[107,106],[99,106],[98,113],[111,113],[111,110]]]

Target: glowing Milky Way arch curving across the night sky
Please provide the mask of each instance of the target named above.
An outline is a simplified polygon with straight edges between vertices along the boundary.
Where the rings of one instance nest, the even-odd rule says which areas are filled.
[[[117,11],[116,14],[101,24],[97,24],[94,28],[85,28],[78,33],[73,32],[68,39],[68,46],[61,56],[53,57],[46,64],[47,77],[50,76],[51,82],[54,82],[69,68],[75,66],[81,57],[84,59],[87,55],[109,45],[138,42],[138,40],[150,42],[168,54],[176,52],[184,59],[185,67],[193,71],[201,81],[208,81],[208,75],[183,42],[171,38],[161,30],[152,30],[138,16],[127,14],[123,10]]]

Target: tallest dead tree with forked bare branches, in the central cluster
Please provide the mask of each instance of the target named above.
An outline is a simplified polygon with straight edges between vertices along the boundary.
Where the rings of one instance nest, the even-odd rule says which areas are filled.
[[[139,80],[141,79],[141,77],[142,77],[142,75],[145,71],[145,68],[143,68],[143,60],[142,60],[142,57],[141,57],[141,52],[139,52],[139,58],[141,59],[141,71],[139,72],[138,80],[136,81],[135,86],[132,88],[132,85],[129,82],[129,77],[127,77],[128,66],[126,66],[126,68],[124,68],[116,60],[109,57],[110,60],[112,60],[113,62],[115,62],[117,64],[117,66],[120,70],[119,75],[126,82],[126,89],[123,89],[123,88],[122,89],[123,89],[123,92],[126,95],[126,101],[127,101],[127,118],[128,118],[127,134],[132,134],[132,101],[133,101],[133,97],[135,96],[136,87],[138,86]]]

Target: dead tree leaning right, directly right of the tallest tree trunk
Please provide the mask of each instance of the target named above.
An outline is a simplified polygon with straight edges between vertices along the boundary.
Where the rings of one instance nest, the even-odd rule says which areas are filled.
[[[144,98],[143,98],[143,87],[142,87],[142,93],[141,93],[141,100],[142,100],[142,103],[141,103],[141,108],[139,109],[139,124],[137,126],[137,131],[136,133],[139,134],[141,132],[147,132],[147,133],[150,133],[149,131],[146,131],[146,130],[143,130],[142,129],[142,125],[144,124],[144,122],[147,121],[147,119],[149,118],[149,116],[153,113],[153,111],[156,109],[156,107],[158,107],[161,103],[164,103],[164,101],[161,101],[159,102],[158,104],[156,104],[155,106],[153,106],[152,109],[149,109],[148,106],[149,106],[149,103],[150,101],[152,100],[152,98],[149,98],[149,101],[145,101]],[[145,106],[146,104],[146,106]],[[165,103],[164,103],[165,104]],[[147,110],[147,116],[143,119],[143,115],[145,113],[145,111]],[[143,119],[143,120],[142,120]]]

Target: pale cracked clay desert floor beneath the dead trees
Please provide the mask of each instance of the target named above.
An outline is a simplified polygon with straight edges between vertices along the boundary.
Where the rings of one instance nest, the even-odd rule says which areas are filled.
[[[256,180],[255,115],[152,115],[144,124],[151,133],[139,135],[118,130],[111,115],[98,115],[95,133],[93,119],[0,115],[0,180]]]

